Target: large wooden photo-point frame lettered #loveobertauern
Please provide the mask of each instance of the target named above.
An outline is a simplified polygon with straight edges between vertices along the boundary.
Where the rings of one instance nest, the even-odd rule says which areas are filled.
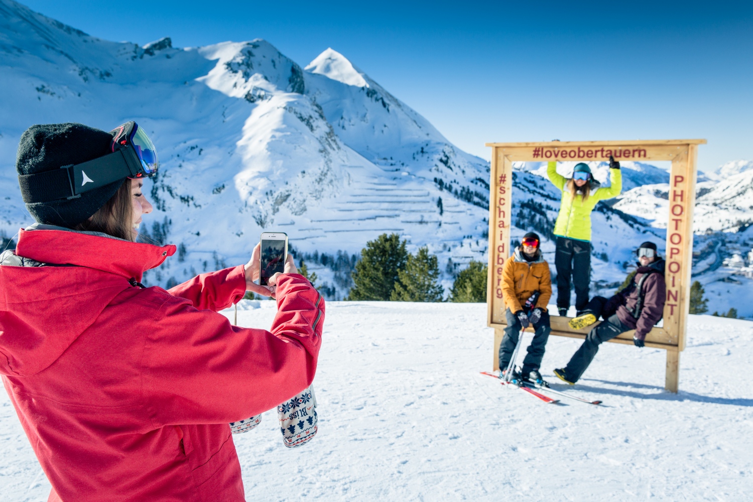
[[[690,307],[693,266],[693,211],[698,145],[705,139],[657,141],[550,141],[535,143],[487,143],[492,147],[489,183],[489,276],[486,290],[487,316],[495,328],[493,370],[498,370],[498,350],[502,328],[507,324],[501,290],[502,265],[510,256],[512,210],[512,166],[514,162],[660,160],[671,161],[669,176],[669,221],[666,232],[666,303],[663,327],[654,327],[646,336],[647,347],[663,348],[666,354],[665,388],[677,392],[680,352],[685,348],[687,312]],[[590,329],[573,330],[568,319],[550,318],[551,334],[584,339]],[[528,328],[531,330],[531,328]],[[633,345],[634,331],[620,334],[610,342]]]

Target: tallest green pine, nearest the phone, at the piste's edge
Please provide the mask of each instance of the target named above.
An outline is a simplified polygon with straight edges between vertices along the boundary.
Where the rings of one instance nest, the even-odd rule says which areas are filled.
[[[361,250],[361,261],[352,272],[353,288],[348,300],[387,301],[395,289],[398,271],[405,268],[408,251],[406,241],[400,236],[383,233],[376,240],[366,243]]]

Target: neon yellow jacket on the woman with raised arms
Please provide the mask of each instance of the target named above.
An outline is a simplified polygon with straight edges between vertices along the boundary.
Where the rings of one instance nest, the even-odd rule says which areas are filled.
[[[550,162],[547,165],[547,175],[555,187],[562,190],[562,202],[559,204],[559,214],[554,225],[554,235],[576,239],[579,241],[591,240],[591,211],[596,207],[596,202],[603,199],[611,199],[620,195],[622,191],[622,173],[620,169],[609,169],[611,187],[592,188],[588,199],[584,202],[580,195],[575,196],[575,201],[570,195],[566,185],[568,178],[557,172],[557,163]]]

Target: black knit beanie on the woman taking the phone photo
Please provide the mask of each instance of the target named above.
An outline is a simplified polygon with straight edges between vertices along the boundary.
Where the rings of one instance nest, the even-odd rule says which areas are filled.
[[[21,135],[16,156],[18,175],[60,169],[110,153],[112,135],[82,123],[46,123],[29,127]],[[126,178],[81,193],[75,199],[27,203],[26,209],[41,224],[73,228],[105,205]]]

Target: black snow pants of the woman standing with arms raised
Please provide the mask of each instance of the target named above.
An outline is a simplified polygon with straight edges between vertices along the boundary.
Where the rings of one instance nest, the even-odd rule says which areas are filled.
[[[570,276],[575,286],[575,309],[581,311],[588,303],[591,272],[591,243],[557,236],[554,255],[557,269],[557,308],[570,307]]]

